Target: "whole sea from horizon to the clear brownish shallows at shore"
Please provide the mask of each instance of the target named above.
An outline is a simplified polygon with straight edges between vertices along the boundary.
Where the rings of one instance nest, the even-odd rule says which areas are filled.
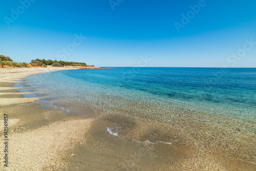
[[[121,137],[141,140],[147,134],[147,141],[162,141],[155,127],[162,124],[168,129],[165,142],[200,151],[217,144],[230,151],[239,147],[245,160],[255,159],[255,68],[65,70],[32,75],[27,82],[55,107],[65,106],[72,114],[75,105],[79,115],[113,120],[118,126],[111,129]],[[136,118],[151,126],[143,131]],[[136,125],[140,130],[131,132]]]

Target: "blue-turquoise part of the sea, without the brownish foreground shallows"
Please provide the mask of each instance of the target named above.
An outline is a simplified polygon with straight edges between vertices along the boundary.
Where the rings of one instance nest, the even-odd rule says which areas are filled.
[[[105,109],[115,110],[119,105],[133,108],[135,103],[145,103],[151,109],[146,111],[148,115],[167,117],[164,110],[179,105],[255,121],[256,69],[68,70],[33,75],[29,79],[46,94]],[[141,110],[145,109],[133,109],[133,114],[139,115]]]

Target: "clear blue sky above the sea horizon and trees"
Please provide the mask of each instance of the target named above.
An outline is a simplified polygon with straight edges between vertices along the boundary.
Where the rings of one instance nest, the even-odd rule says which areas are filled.
[[[256,67],[255,0],[0,4],[0,54],[19,62],[45,58],[99,67]]]

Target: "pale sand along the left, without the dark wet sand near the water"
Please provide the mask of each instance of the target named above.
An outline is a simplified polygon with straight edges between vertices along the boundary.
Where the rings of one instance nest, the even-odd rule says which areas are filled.
[[[85,141],[92,119],[67,117],[59,110],[39,109],[29,103],[38,98],[20,98],[12,83],[29,75],[74,68],[0,69],[0,126],[4,140],[4,114],[8,115],[8,167],[4,166],[1,143],[0,170],[68,170],[67,151]],[[3,95],[5,96],[3,98]],[[10,96],[10,98],[6,96]],[[16,95],[16,98],[13,96]]]

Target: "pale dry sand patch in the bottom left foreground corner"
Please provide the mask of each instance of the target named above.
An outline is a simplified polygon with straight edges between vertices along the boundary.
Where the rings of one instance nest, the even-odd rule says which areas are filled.
[[[63,157],[77,142],[86,141],[84,137],[91,122],[86,119],[60,121],[11,134],[10,165],[5,170],[67,170],[68,163]],[[4,169],[3,164],[1,166]]]

